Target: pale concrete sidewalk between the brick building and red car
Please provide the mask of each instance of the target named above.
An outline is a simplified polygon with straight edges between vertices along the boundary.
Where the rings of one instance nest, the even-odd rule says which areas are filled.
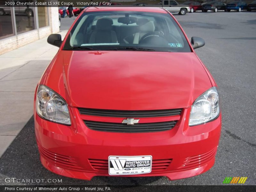
[[[57,51],[45,37],[0,55],[0,157],[33,115],[36,84]]]

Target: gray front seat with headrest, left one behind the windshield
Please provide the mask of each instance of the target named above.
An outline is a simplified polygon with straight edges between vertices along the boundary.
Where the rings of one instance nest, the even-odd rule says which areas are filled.
[[[113,20],[108,17],[97,20],[96,29],[92,31],[89,43],[118,43],[116,32],[112,31]]]

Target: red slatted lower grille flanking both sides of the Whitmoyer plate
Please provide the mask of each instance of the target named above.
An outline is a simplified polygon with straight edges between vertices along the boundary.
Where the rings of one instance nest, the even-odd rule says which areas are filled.
[[[108,160],[103,159],[88,159],[94,170],[102,173],[108,173]],[[159,159],[152,160],[152,171],[151,172],[161,172],[168,168],[171,164],[172,159]]]

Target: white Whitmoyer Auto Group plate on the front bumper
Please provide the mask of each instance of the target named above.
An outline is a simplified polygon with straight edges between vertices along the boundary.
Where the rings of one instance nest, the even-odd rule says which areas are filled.
[[[136,175],[150,173],[152,156],[109,156],[109,175]]]

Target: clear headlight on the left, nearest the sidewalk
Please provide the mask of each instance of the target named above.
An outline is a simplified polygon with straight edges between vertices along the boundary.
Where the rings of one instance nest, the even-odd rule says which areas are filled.
[[[66,101],[50,88],[39,85],[36,93],[36,112],[49,121],[70,125]]]

